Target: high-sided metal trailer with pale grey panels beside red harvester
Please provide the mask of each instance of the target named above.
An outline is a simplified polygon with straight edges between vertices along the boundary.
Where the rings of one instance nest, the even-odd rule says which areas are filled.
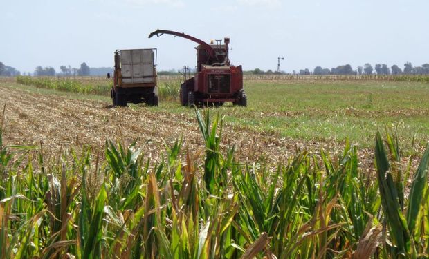
[[[115,51],[113,106],[127,106],[128,102],[158,106],[156,56],[156,48]]]

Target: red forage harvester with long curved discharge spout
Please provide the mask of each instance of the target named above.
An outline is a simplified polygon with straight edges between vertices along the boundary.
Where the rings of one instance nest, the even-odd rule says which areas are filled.
[[[161,36],[170,34],[199,44],[197,46],[197,73],[194,77],[186,76],[181,84],[181,104],[215,105],[220,106],[224,102],[232,102],[240,106],[247,106],[247,96],[243,90],[243,70],[241,66],[232,66],[228,57],[230,43],[229,38],[224,39],[224,44],[217,40],[217,44],[207,44],[185,33],[171,30],[156,30],[149,35]]]

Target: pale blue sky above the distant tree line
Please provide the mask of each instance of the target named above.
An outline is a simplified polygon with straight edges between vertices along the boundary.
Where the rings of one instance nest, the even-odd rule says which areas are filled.
[[[230,37],[244,70],[429,63],[427,0],[0,0],[0,61],[36,66],[113,66],[113,51],[158,48],[158,70],[195,66],[192,41]]]

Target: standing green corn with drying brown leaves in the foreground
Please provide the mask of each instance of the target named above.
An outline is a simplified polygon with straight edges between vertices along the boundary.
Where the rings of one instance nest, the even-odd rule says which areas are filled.
[[[110,140],[53,157],[0,131],[0,258],[428,258],[429,146],[411,172],[378,133],[375,177],[350,144],[244,163],[219,115],[196,116],[205,153],[177,140],[157,162]]]

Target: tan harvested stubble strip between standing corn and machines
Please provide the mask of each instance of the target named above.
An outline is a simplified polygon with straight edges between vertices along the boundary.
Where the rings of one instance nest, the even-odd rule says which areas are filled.
[[[125,144],[138,140],[145,153],[158,157],[167,144],[183,137],[190,151],[199,153],[201,136],[195,119],[151,108],[111,108],[105,102],[68,99],[56,95],[27,93],[0,86],[0,105],[6,103],[4,140],[13,144],[43,143],[45,151],[57,152],[69,146],[104,146],[106,138],[122,139]],[[278,160],[307,148],[318,153],[320,148],[337,151],[341,146],[333,143],[302,142],[289,138],[264,135],[243,128],[226,126],[223,144],[237,144],[240,159],[255,160],[268,157]],[[194,152],[192,152],[194,153]],[[372,163],[369,152],[360,152],[361,161]]]

